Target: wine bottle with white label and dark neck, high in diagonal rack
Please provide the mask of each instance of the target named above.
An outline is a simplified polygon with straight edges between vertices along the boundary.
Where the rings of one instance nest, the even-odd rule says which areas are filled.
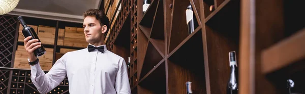
[[[189,4],[186,10],[186,18],[189,34],[191,34],[192,32],[194,32],[193,8],[191,3]]]

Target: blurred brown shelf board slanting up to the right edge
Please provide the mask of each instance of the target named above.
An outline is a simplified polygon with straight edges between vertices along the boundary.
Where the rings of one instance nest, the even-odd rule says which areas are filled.
[[[305,29],[302,29],[263,50],[261,54],[262,72],[267,74],[288,66],[294,68],[293,70],[297,70],[298,66],[303,66],[302,63],[294,63],[305,60],[304,40]]]

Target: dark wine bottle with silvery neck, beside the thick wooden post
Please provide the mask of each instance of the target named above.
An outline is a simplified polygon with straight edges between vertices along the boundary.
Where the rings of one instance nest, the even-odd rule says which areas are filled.
[[[230,62],[230,78],[227,86],[227,94],[237,94],[238,93],[238,68],[235,51],[229,52],[229,62]]]

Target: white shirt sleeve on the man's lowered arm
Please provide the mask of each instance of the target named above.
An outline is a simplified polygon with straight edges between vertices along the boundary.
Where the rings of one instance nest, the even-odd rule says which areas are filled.
[[[123,58],[121,58],[118,63],[118,71],[115,79],[115,90],[118,94],[131,93],[127,65]]]

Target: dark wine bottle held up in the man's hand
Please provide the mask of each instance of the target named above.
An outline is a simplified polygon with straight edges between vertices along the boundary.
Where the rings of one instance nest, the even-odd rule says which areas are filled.
[[[33,29],[33,27],[31,26],[27,26],[25,21],[23,20],[22,16],[19,16],[18,17],[18,20],[20,22],[20,24],[22,25],[23,29],[22,29],[22,35],[24,38],[28,37],[28,36],[32,36],[31,39],[29,40],[32,40],[32,39],[38,39],[38,42],[41,42],[39,37],[37,36],[35,30]],[[34,55],[36,57],[40,57],[42,55],[44,55],[46,53],[46,50],[44,49],[44,46],[41,45],[40,48],[36,49],[34,51]]]

